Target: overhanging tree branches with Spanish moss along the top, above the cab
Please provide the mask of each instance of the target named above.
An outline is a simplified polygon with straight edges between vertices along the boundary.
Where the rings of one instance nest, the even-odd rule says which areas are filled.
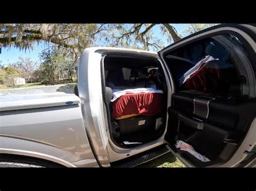
[[[83,48],[97,41],[109,40],[109,46],[130,46],[129,41],[140,43],[144,49],[161,48],[159,39],[154,40],[152,29],[160,25],[160,30],[173,41],[180,39],[171,24],[0,24],[1,47],[32,48],[33,43],[42,40],[65,47],[74,58],[79,57]],[[112,39],[113,38],[113,39]],[[134,43],[131,46],[134,46]]]

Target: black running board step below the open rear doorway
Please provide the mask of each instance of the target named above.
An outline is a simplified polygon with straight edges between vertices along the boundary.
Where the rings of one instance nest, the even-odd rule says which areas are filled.
[[[162,145],[157,148],[153,148],[152,150],[145,151],[141,154],[117,162],[112,162],[111,167],[129,168],[138,166],[150,160],[156,159],[157,157],[160,157],[161,155],[166,154],[168,152],[170,152],[170,150],[165,145]]]

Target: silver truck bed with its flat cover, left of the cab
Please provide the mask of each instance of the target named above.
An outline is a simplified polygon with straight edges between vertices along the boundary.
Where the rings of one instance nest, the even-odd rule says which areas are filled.
[[[97,167],[80,99],[58,89],[61,86],[1,91],[0,153],[42,158],[67,167]]]

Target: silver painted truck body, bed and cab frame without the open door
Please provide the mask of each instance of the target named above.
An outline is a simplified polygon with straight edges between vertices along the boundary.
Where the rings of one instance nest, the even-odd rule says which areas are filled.
[[[42,158],[67,167],[109,167],[110,162],[164,144],[164,135],[132,149],[111,142],[100,77],[100,61],[106,52],[158,58],[147,51],[86,48],[79,63],[79,97],[73,87],[65,86],[1,90],[0,153]]]

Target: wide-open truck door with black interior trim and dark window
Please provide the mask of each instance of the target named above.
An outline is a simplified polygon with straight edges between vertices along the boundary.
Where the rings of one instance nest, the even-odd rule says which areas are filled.
[[[174,84],[166,141],[187,166],[254,166],[253,25],[219,25],[159,52]]]

